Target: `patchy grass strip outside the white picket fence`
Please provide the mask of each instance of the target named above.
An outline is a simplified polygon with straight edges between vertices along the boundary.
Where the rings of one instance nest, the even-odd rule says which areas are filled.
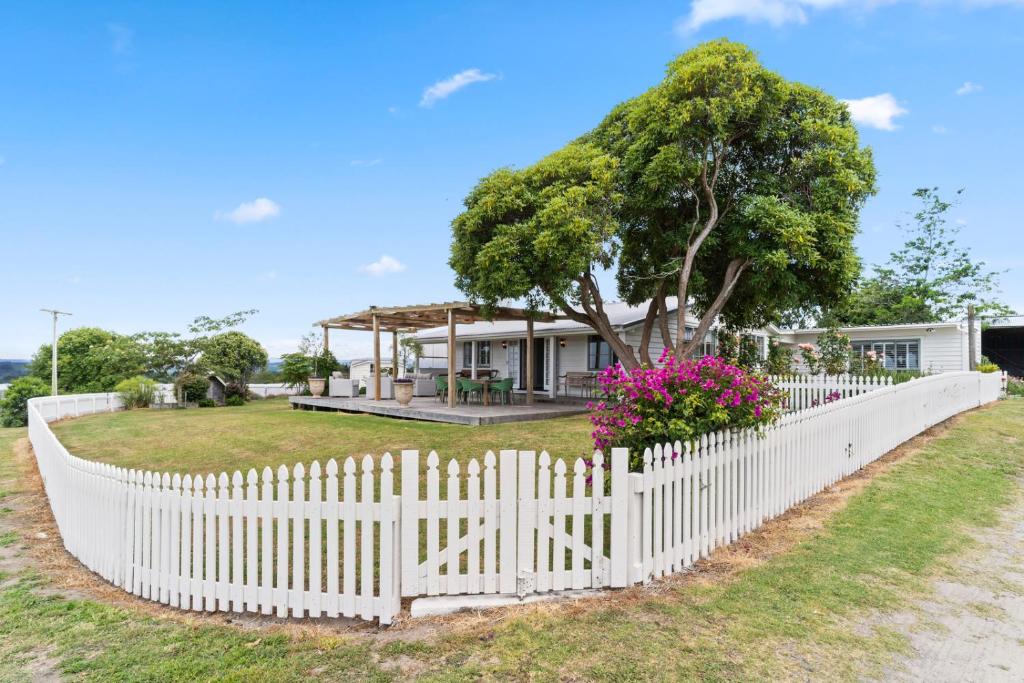
[[[252,413],[260,410],[275,415],[263,405]],[[227,411],[210,413],[200,419],[236,419]],[[140,415],[182,425],[194,419]],[[337,417],[293,419],[309,425]],[[121,433],[143,430],[131,424],[139,419],[128,414],[80,424],[106,422]],[[78,429],[69,424],[61,431]],[[0,489],[19,486],[9,444],[23,434],[0,431]],[[170,447],[164,445],[163,457]],[[244,449],[236,444],[228,453],[217,462]],[[104,681],[411,674],[434,680],[853,679],[878,673],[906,645],[884,628],[851,624],[874,610],[905,608],[928,590],[929,578],[954,566],[958,554],[970,552],[971,529],[995,523],[999,508],[1014,499],[1022,469],[1024,401],[1004,401],[966,416],[878,476],[790,552],[732,578],[629,591],[573,609],[541,607],[457,633],[443,626],[434,636],[392,631],[386,642],[330,627],[315,636],[289,636],[154,618],[59,597],[45,578],[23,571],[0,587],[0,678],[28,678],[32,657],[42,652],[66,676]]]

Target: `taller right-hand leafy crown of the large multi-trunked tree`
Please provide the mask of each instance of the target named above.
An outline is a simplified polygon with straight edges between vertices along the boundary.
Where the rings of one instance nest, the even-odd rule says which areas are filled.
[[[838,301],[853,283],[870,152],[845,104],[745,46],[717,40],[680,55],[590,138],[621,160],[627,301],[667,285],[702,317],[748,328]]]

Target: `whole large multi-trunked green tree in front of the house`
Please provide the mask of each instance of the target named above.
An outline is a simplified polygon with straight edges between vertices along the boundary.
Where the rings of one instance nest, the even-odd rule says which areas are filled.
[[[848,292],[873,182],[844,104],[765,69],[743,45],[714,41],[581,140],[481,180],[454,222],[451,263],[470,296],[550,303],[636,367],[651,360],[648,344],[637,358],[614,334],[601,269],[617,265],[628,302],[651,300],[645,340],[660,321],[666,346],[688,355],[720,315],[765,324]],[[699,325],[688,336],[691,311]]]

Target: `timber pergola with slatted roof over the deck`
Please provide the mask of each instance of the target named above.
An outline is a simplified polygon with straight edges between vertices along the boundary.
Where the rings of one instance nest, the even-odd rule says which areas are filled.
[[[449,301],[419,306],[371,306],[366,310],[337,317],[329,317],[315,325],[324,329],[324,348],[330,348],[329,330],[357,330],[374,333],[374,398],[381,398],[381,333],[391,333],[392,372],[398,372],[398,334],[429,330],[447,325],[447,376],[449,407],[455,408],[456,398],[456,346],[455,326],[477,321],[526,322],[526,403],[534,402],[534,323],[552,323],[558,316],[551,313],[528,311],[523,308],[483,306],[466,301]]]

